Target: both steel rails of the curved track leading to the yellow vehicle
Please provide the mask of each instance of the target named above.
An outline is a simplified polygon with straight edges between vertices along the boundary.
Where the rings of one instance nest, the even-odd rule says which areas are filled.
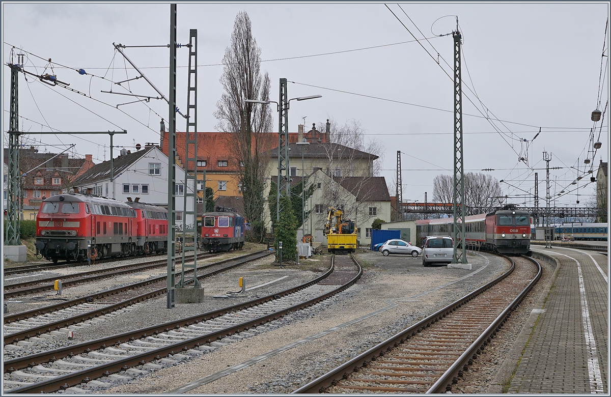
[[[238,333],[244,330],[250,329],[250,327],[255,327],[259,325],[263,325],[266,322],[273,321],[274,319],[279,318],[280,316],[284,316],[290,311],[300,310],[305,307],[309,307],[314,305],[321,300],[327,299],[328,297],[339,293],[340,291],[345,290],[349,286],[353,285],[357,280],[360,279],[363,274],[363,269],[360,264],[351,256],[354,263],[357,266],[357,274],[348,282],[343,285],[338,286],[332,291],[329,291],[325,294],[322,294],[318,297],[306,300],[305,302],[301,302],[300,304],[292,305],[291,307],[284,308],[279,311],[275,311],[269,315],[260,316],[255,319],[251,319],[249,321],[241,322],[240,324],[236,324],[235,326],[227,327],[225,329],[218,330],[216,332],[210,332],[199,337],[190,338],[188,340],[179,341],[174,344],[169,344],[164,346],[163,348],[142,352],[136,355],[131,355],[129,357],[125,357],[125,359],[114,360],[112,362],[106,363],[104,365],[96,366],[95,368],[90,368],[88,370],[81,370],[75,373],[66,374],[64,376],[59,376],[54,379],[49,379],[48,381],[38,382],[32,385],[23,386],[20,388],[15,388],[13,390],[5,390],[5,393],[41,393],[41,392],[54,392],[59,390],[60,388],[68,388],[71,385],[77,385],[86,379],[95,379],[97,377],[101,377],[104,375],[109,375],[113,372],[117,372],[120,370],[126,370],[130,366],[142,365],[149,360],[159,359],[164,355],[175,354],[175,351],[187,351],[189,348],[195,348],[200,346],[202,343],[211,343],[214,340],[222,339],[225,336],[232,335],[233,333]],[[214,318],[216,316],[221,316],[230,311],[241,310],[243,308],[254,307],[255,305],[263,304],[268,302],[269,300],[274,300],[280,296],[285,296],[291,293],[295,293],[296,291],[307,288],[310,285],[314,285],[320,282],[323,279],[326,279],[334,272],[334,263],[331,264],[331,268],[314,280],[310,282],[304,283],[302,285],[290,288],[288,290],[282,291],[280,293],[271,294],[266,297],[262,297],[259,299],[251,300],[249,302],[244,302],[243,304],[233,305],[231,307],[227,307],[221,310],[216,310],[210,313],[204,313],[202,315],[191,316],[189,318],[180,319],[177,321],[166,322],[164,324],[159,324],[157,326],[147,327],[145,329],[140,329],[132,332],[122,333],[120,335],[115,335],[113,337],[102,338],[96,341],[90,341],[87,343],[80,343],[73,346],[66,346],[65,348],[56,349],[49,352],[43,352],[40,354],[29,355],[26,357],[20,357],[19,359],[9,360],[4,362],[5,371],[15,371],[20,368],[25,368],[29,365],[37,365],[38,363],[48,362],[49,360],[56,360],[56,357],[67,357],[68,355],[76,355],[84,352],[92,351],[93,349],[106,348],[108,345],[112,344],[120,344],[123,341],[131,340],[131,338],[140,338],[147,334],[158,333],[170,330],[170,328],[178,328],[185,324],[192,324],[192,322],[205,321],[207,319]]]

